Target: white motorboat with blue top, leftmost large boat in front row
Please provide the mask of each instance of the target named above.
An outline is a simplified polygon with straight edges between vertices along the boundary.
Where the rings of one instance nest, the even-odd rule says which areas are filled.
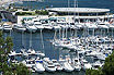
[[[36,60],[35,66],[33,67],[37,73],[44,73],[43,60]]]

